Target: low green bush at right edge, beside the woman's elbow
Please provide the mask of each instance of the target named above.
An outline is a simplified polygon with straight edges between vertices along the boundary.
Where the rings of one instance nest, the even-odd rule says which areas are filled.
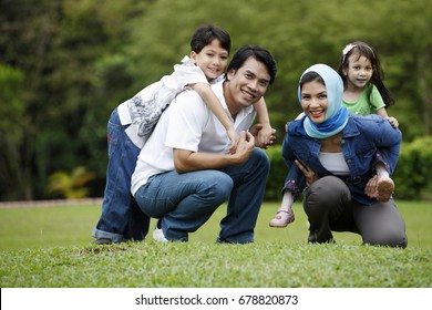
[[[432,136],[403,143],[394,170],[395,194],[402,199],[420,199],[432,193]],[[431,197],[429,197],[431,198]]]

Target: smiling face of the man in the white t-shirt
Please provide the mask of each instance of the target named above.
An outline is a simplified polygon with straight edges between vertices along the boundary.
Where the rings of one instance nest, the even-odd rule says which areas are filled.
[[[270,82],[270,74],[264,63],[254,58],[245,61],[237,71],[227,73],[226,90],[224,92],[228,107],[238,112],[241,107],[258,102],[266,93]]]

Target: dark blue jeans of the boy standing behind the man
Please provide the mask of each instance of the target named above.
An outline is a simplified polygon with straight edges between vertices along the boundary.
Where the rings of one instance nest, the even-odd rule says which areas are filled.
[[[113,242],[142,240],[148,232],[150,218],[141,211],[131,194],[131,177],[135,170],[140,148],[124,132],[117,110],[107,124],[109,165],[102,215],[92,236],[107,238]]]

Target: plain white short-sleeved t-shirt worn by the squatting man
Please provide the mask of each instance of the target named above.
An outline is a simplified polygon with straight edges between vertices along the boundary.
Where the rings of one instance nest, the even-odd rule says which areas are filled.
[[[212,85],[212,89],[230,117],[223,95],[223,83],[220,81]],[[255,115],[254,106],[243,108],[234,123],[236,132],[248,131]],[[141,149],[132,175],[131,193],[135,195],[148,177],[174,170],[173,148],[226,154],[229,146],[230,141],[225,127],[198,93],[193,90],[184,91],[162,114],[154,132]]]

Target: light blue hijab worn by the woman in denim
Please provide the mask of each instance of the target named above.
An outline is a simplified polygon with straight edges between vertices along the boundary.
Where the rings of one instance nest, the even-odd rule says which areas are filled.
[[[326,138],[341,132],[348,123],[348,110],[342,105],[343,82],[339,74],[327,64],[315,64],[309,66],[302,76],[308,72],[318,73],[326,83],[328,107],[326,118],[321,124],[313,123],[308,116],[304,122],[306,133],[315,138]],[[298,99],[301,103],[300,84],[298,86]]]

